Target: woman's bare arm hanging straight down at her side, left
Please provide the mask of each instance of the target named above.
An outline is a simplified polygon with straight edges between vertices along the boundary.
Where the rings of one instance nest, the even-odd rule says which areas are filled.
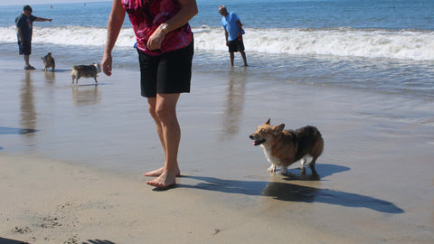
[[[104,56],[102,57],[101,66],[102,71],[110,76],[113,64],[113,59],[111,57],[111,52],[115,47],[115,43],[118,40],[118,35],[122,24],[125,20],[126,11],[122,6],[121,0],[113,0],[113,6],[111,8],[111,13],[109,16],[109,23],[107,26],[107,40],[104,47]]]

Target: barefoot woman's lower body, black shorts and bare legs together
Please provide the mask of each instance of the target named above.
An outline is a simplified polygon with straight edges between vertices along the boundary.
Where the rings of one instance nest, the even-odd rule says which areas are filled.
[[[140,55],[142,95],[148,98],[149,112],[156,122],[156,130],[165,150],[165,165],[145,173],[146,176],[157,176],[147,182],[156,187],[170,186],[180,175],[177,153],[181,131],[176,117],[176,103],[180,93],[190,91],[192,59],[193,42],[184,49],[166,52],[158,58]]]

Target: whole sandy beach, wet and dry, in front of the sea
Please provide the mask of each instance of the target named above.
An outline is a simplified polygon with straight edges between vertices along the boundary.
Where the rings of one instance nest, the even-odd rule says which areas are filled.
[[[142,173],[163,153],[136,71],[71,85],[61,65],[0,64],[0,243],[434,241],[434,101],[194,73],[183,177],[156,191]],[[268,117],[319,128],[319,176],[267,172],[248,135]]]

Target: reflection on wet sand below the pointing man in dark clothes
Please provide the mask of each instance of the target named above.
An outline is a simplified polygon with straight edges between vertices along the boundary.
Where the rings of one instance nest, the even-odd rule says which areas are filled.
[[[22,80],[20,100],[21,100],[21,127],[24,131],[36,130],[36,110],[34,108],[34,89],[32,84],[32,71],[25,71]],[[34,133],[23,133],[25,136],[33,136]]]

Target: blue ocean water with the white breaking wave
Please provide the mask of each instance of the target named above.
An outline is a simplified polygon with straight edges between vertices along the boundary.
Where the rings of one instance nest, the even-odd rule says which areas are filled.
[[[190,22],[193,71],[229,67],[219,5],[241,17],[250,67],[264,82],[304,83],[434,99],[434,1],[198,0]],[[100,61],[111,2],[33,5],[52,23],[33,24],[33,57],[51,51],[58,65]],[[17,55],[14,18],[21,5],[0,7],[0,55]],[[114,50],[115,69],[137,70],[135,36],[126,19]],[[242,69],[240,55],[234,69]]]

